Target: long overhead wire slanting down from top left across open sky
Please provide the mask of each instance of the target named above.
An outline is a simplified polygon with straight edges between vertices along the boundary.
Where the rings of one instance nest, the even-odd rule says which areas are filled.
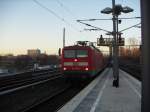
[[[37,0],[33,0],[33,1],[37,5],[39,5],[41,8],[45,9],[46,11],[48,11],[49,13],[51,13],[52,15],[54,15],[57,19],[63,21],[66,25],[70,26],[72,29],[76,30],[77,32],[81,32],[76,27],[74,27],[71,23],[69,23],[67,20],[65,20],[64,18],[62,18],[61,16],[59,16],[57,13],[55,13],[53,10],[49,9],[48,7],[46,7],[45,5],[43,5],[42,3],[40,3]]]

